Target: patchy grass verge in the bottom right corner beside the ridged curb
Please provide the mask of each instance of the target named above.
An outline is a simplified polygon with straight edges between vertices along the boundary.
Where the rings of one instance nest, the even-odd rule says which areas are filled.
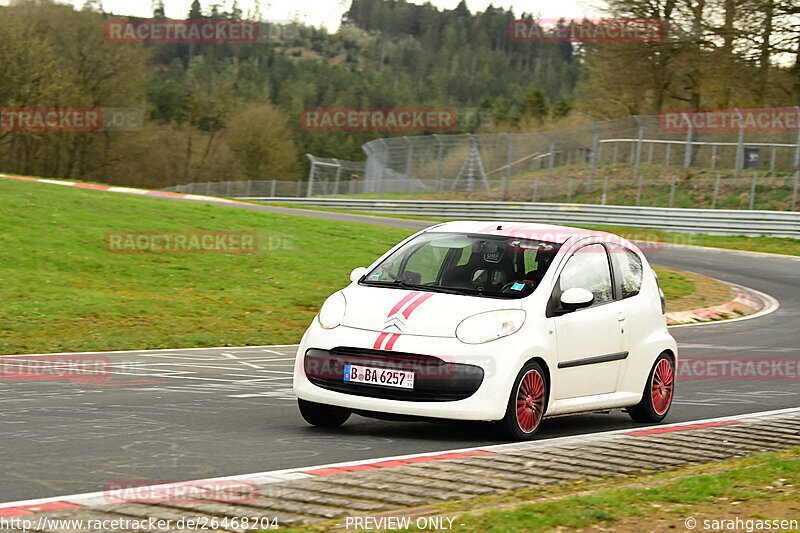
[[[697,530],[745,531],[747,526],[713,527],[714,520],[736,518],[751,520],[753,526],[756,520],[794,519],[793,526],[770,524],[769,529],[797,530],[800,448],[578,487],[571,484],[432,504],[425,514],[455,517],[454,529],[463,533],[686,531],[691,519]],[[706,520],[711,527],[705,527]],[[320,533],[334,528],[331,523],[284,531]]]

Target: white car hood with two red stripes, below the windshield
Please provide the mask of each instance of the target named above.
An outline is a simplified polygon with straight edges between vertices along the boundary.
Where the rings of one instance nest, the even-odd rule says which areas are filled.
[[[520,309],[519,300],[352,284],[344,289],[347,311],[342,324],[352,328],[455,337],[458,324],[472,315]]]

